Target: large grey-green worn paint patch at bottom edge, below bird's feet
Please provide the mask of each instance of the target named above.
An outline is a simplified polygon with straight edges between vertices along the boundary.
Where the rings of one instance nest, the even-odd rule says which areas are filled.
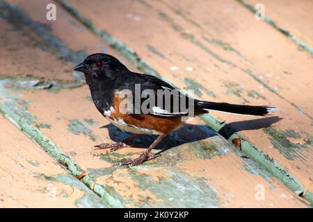
[[[143,201],[136,207],[220,207],[217,190],[203,178],[190,178],[166,167],[170,177],[159,178],[159,182],[156,182],[149,174],[138,173],[138,168],[129,170],[131,179],[137,182],[138,188],[151,191],[161,201],[154,201],[150,205]]]

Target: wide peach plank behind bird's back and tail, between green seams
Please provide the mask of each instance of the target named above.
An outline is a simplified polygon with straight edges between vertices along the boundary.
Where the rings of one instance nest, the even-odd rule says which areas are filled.
[[[309,53],[235,1],[93,1],[88,7],[83,1],[67,2],[131,46],[164,78],[197,89],[197,98],[277,106],[282,119],[212,113],[312,191]]]

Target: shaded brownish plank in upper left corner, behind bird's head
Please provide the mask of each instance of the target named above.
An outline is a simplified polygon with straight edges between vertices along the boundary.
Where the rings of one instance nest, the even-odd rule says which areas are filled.
[[[0,76],[74,80],[72,66],[91,53],[109,50],[99,37],[90,33],[61,8],[56,10],[58,20],[54,22],[46,19],[47,2],[8,2],[11,3],[10,7],[6,1],[1,3],[3,13],[0,15],[0,23],[3,31],[0,33]],[[22,6],[23,9],[15,6]],[[64,31],[66,29],[71,33],[70,37]],[[82,40],[86,39],[90,42],[82,44]],[[114,51],[109,52],[120,58]]]

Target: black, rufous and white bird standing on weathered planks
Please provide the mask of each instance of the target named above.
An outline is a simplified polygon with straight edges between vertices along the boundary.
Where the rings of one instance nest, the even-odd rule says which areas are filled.
[[[97,110],[120,130],[133,133],[122,142],[102,143],[93,149],[109,148],[113,152],[127,147],[140,135],[158,135],[141,155],[115,163],[119,166],[136,166],[156,158],[158,155],[151,155],[151,151],[166,135],[183,126],[188,117],[206,114],[209,110],[255,116],[266,116],[277,110],[271,105],[236,105],[193,99],[160,78],[129,70],[120,60],[105,53],[86,57],[73,70],[85,75]],[[155,100],[161,102],[155,103]]]

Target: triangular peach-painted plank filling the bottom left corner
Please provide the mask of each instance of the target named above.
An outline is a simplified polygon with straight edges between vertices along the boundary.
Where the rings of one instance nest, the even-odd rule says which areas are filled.
[[[104,207],[99,198],[0,117],[0,207]]]

